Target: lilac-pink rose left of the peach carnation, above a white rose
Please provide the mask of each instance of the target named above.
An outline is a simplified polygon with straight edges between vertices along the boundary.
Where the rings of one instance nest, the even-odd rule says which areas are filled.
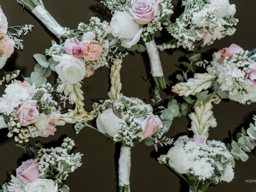
[[[84,56],[84,49],[82,47],[82,44],[76,37],[66,40],[64,44],[64,51],[67,54],[73,55],[78,59]]]

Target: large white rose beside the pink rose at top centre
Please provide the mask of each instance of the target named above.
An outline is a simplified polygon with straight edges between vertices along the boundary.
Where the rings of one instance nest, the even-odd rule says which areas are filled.
[[[116,11],[110,22],[110,30],[114,37],[121,40],[121,46],[130,48],[138,43],[143,29],[135,22],[129,12]]]

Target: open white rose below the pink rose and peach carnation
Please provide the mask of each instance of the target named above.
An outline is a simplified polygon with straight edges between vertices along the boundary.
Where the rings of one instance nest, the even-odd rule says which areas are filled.
[[[60,62],[55,69],[63,84],[76,84],[84,79],[86,72],[82,60],[70,54],[64,54],[63,56],[52,55],[52,58],[54,61]]]

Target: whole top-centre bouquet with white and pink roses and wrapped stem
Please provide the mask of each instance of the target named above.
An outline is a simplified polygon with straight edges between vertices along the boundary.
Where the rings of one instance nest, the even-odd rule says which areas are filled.
[[[154,40],[162,23],[172,15],[171,0],[102,0],[113,16],[108,30],[119,50],[144,52],[144,43],[150,58],[151,73],[156,88],[166,88],[160,57]]]

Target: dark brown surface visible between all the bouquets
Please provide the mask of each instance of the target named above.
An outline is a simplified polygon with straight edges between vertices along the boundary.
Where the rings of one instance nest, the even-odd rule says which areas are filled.
[[[176,2],[176,1],[174,1]],[[94,0],[44,0],[46,9],[62,25],[69,28],[76,28],[80,22],[88,23],[90,17],[95,13],[90,10],[90,6],[95,5]],[[239,23],[236,33],[233,36],[217,40],[212,46],[206,46],[204,51],[212,48],[221,49],[228,47],[231,43],[240,45],[245,50],[255,48],[255,0],[230,0],[237,7],[236,18]],[[15,52],[9,59],[6,67],[8,69],[20,69],[23,76],[30,76],[36,62],[33,60],[33,54],[44,53],[46,48],[51,45],[51,40],[57,40],[50,34],[42,24],[26,10],[16,3],[16,0],[0,0],[0,5],[8,19],[9,26],[22,24],[33,24],[34,29],[31,34],[23,37],[24,50]],[[174,50],[171,54],[160,52],[162,66],[166,78],[172,75],[178,68],[176,67],[179,58],[184,56],[184,52]],[[97,70],[95,74],[84,80],[83,90],[85,92],[86,110],[91,110],[92,103],[98,99],[107,98],[109,89],[108,83],[109,69],[104,67]],[[122,93],[126,96],[133,96],[148,101],[150,99],[150,83],[143,80],[142,76],[148,74],[148,58],[146,54],[128,55],[123,62],[121,70]],[[54,75],[48,78],[49,82],[54,82]],[[20,77],[21,79],[21,77]],[[172,83],[174,78],[169,78]],[[2,95],[4,86],[0,86]],[[164,100],[172,99],[173,94],[170,88],[167,92],[161,92]],[[209,139],[227,141],[230,133],[233,133],[245,124],[246,128],[252,122],[252,115],[256,114],[256,104],[242,105],[232,101],[222,101],[214,106],[214,116],[217,119],[218,126],[210,130]],[[92,122],[95,124],[95,122]],[[176,118],[167,133],[169,137],[175,137],[186,130],[190,122],[186,117]],[[55,136],[49,138],[30,139],[30,143],[36,140],[41,142],[50,142],[58,140],[66,134],[75,140],[75,152],[84,154],[83,165],[74,173],[71,173],[66,184],[72,192],[115,192],[118,177],[116,175],[116,160],[118,158],[118,147],[115,148],[112,140],[108,140],[102,134],[90,129],[84,128],[80,134],[76,134],[72,125],[57,127]],[[11,173],[19,165],[17,160],[24,153],[17,148],[14,138],[8,138],[7,130],[0,130],[0,183],[6,180],[6,172]],[[160,154],[165,154],[168,149],[160,148],[159,152],[154,152],[152,147],[146,147],[139,144],[132,148],[132,168],[131,168],[131,188],[133,192],[187,192],[186,185],[180,183],[177,176],[168,168],[158,163],[156,158]],[[218,184],[210,188],[209,192],[256,192],[256,183],[247,183],[245,180],[255,180],[255,150],[250,154],[247,162],[236,161],[235,178],[232,182]],[[183,189],[182,189],[183,188]]]

